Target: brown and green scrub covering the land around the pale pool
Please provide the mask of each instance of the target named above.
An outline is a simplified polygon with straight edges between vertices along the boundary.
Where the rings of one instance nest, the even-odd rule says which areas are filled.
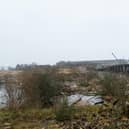
[[[128,77],[106,73],[100,79],[96,72],[87,74],[23,71],[5,76],[8,107],[0,110],[0,128],[13,129],[127,129]],[[71,90],[66,84],[77,84]],[[69,83],[71,82],[71,83]],[[98,83],[99,82],[99,83]],[[80,85],[79,85],[80,84]],[[67,90],[66,90],[66,89]],[[97,89],[98,88],[98,89]],[[61,98],[74,93],[103,93],[102,105],[70,106]],[[71,91],[70,91],[71,90]],[[69,92],[70,91],[70,92]],[[102,95],[102,94],[101,94]],[[108,99],[106,99],[106,97]]]

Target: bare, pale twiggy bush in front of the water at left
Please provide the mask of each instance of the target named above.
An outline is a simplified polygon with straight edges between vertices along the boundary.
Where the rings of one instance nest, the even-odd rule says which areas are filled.
[[[22,87],[19,85],[17,76],[6,75],[5,79],[5,94],[7,99],[7,107],[17,109],[22,106],[24,97]]]

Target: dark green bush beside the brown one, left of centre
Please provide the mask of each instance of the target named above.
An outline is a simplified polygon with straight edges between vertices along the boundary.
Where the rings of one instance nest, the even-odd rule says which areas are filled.
[[[39,75],[37,86],[42,106],[52,105],[54,97],[59,96],[62,89],[61,83],[52,74]]]

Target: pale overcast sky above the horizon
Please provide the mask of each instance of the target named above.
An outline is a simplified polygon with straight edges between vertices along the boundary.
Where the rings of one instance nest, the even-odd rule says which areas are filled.
[[[129,59],[128,0],[1,0],[0,66]]]

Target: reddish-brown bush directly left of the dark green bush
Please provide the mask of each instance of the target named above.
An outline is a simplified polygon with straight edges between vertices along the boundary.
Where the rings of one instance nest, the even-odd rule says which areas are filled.
[[[40,98],[37,87],[37,75],[32,71],[24,71],[19,75],[19,81],[23,90],[24,106],[39,107]]]

